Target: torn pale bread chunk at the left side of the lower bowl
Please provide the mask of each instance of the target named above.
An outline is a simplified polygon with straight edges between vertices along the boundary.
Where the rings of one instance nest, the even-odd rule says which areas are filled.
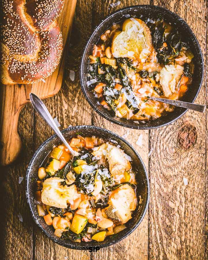
[[[73,202],[73,200],[79,198],[77,187],[60,186],[60,182],[64,179],[57,177],[46,179],[43,183],[43,190],[41,194],[42,203],[57,207],[61,209],[67,208],[67,203]]]

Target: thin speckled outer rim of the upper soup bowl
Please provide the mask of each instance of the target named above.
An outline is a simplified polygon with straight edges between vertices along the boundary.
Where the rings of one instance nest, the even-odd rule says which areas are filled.
[[[164,11],[166,12],[167,14],[170,14],[172,16],[174,16],[175,18],[177,19],[180,19],[183,21],[183,24],[189,28],[190,30],[190,33],[192,34],[195,42],[196,42],[196,45],[198,47],[198,50],[199,50],[199,55],[200,55],[200,58],[202,60],[202,77],[201,77],[201,80],[200,80],[200,83],[199,83],[199,87],[198,87],[198,90],[196,92],[196,95],[194,96],[194,99],[192,101],[192,103],[194,103],[194,101],[196,100],[197,96],[198,96],[198,93],[201,89],[201,86],[202,86],[202,83],[203,83],[203,79],[204,79],[204,58],[203,58],[203,54],[202,54],[202,50],[201,50],[201,47],[200,47],[200,44],[195,36],[195,34],[193,33],[192,29],[190,28],[190,26],[184,21],[183,18],[181,18],[178,14],[170,11],[169,9],[166,9],[164,7],[161,7],[161,6],[158,6],[158,5],[131,5],[131,6],[127,6],[127,7],[123,7],[121,9],[118,9],[112,13],[110,13],[109,15],[107,15],[102,21],[101,23],[99,23],[98,25],[96,25],[92,31],[92,33],[90,34],[90,36],[88,37],[88,39],[86,40],[86,43],[84,45],[84,49],[83,49],[83,53],[81,55],[81,62],[80,62],[80,67],[79,67],[79,79],[80,79],[80,84],[81,84],[81,90],[85,96],[85,98],[87,99],[88,103],[90,104],[90,106],[93,108],[94,111],[96,111],[100,116],[102,116],[103,118],[107,119],[108,121],[112,122],[112,123],[115,123],[116,125],[121,125],[123,127],[128,127],[128,128],[131,128],[131,129],[155,129],[155,128],[159,128],[159,127],[164,127],[166,125],[170,125],[171,123],[173,123],[174,121],[178,120],[181,116],[183,116],[187,111],[188,109],[184,109],[183,112],[181,112],[179,114],[179,116],[177,116],[176,118],[166,122],[166,123],[163,123],[159,126],[150,126],[150,127],[146,127],[145,125],[129,125],[128,123],[123,123],[123,122],[118,122],[117,120],[115,120],[114,118],[108,116],[107,114],[104,114],[103,112],[101,112],[100,110],[96,109],[95,105],[93,104],[93,102],[89,99],[88,97],[88,94],[86,92],[86,86],[84,86],[83,84],[83,75],[82,75],[82,70],[83,70],[83,67],[85,66],[83,60],[84,60],[84,56],[85,56],[85,53],[86,53],[86,48],[88,46],[88,44],[90,43],[92,37],[94,36],[94,33],[96,31],[96,29],[98,27],[100,27],[103,23],[105,23],[105,21],[107,21],[111,16],[114,16],[114,14],[116,13],[119,13],[119,12],[122,12],[124,10],[128,10],[128,9],[133,9],[133,8],[151,8],[153,10],[161,10],[161,11]]]

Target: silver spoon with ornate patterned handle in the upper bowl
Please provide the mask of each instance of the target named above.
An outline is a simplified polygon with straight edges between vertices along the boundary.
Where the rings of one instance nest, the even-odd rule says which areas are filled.
[[[180,100],[161,99],[161,98],[157,98],[154,96],[150,96],[150,97],[148,97],[148,99],[152,99],[154,101],[160,101],[160,102],[163,102],[166,104],[174,105],[176,107],[184,107],[184,108],[192,109],[192,110],[203,112],[203,113],[205,112],[205,109],[206,109],[205,105],[188,103],[188,102],[184,102],[184,101],[180,101]]]

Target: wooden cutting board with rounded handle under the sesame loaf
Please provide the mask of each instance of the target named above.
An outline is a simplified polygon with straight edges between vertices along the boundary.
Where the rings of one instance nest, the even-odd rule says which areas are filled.
[[[41,99],[54,96],[62,86],[64,62],[69,46],[69,37],[77,0],[65,0],[58,24],[62,31],[64,52],[62,60],[54,73],[45,79],[30,85],[0,86],[0,164],[11,164],[21,151],[21,140],[17,133],[18,118],[21,109],[29,103],[32,92]]]

